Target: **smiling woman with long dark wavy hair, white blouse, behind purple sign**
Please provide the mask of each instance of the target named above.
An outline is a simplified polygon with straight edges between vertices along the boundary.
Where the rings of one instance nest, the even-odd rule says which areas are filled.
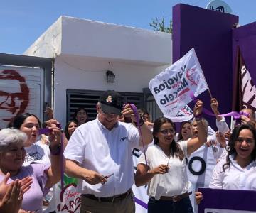
[[[213,170],[210,188],[225,190],[256,190],[256,130],[249,124],[236,126],[230,136],[226,159]],[[196,202],[203,199],[196,192]]]

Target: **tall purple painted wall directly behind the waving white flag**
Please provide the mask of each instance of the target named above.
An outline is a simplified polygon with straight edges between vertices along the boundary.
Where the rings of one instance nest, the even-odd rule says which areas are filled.
[[[186,4],[173,8],[173,62],[195,48],[210,92],[220,102],[220,113],[231,111],[232,29],[235,23],[238,23],[238,16],[227,13]],[[199,98],[210,109],[208,92],[203,92]],[[215,118],[205,117],[215,129]]]

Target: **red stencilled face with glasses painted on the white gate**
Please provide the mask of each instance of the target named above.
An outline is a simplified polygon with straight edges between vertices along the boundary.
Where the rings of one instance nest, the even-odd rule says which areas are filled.
[[[29,89],[24,77],[16,70],[1,70],[0,121],[6,127],[18,114],[23,114],[29,102]],[[1,85],[0,84],[0,85]]]

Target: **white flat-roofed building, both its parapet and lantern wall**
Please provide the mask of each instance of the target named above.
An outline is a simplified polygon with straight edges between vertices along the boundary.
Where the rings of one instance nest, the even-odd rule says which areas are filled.
[[[171,50],[170,33],[61,16],[24,54],[55,57],[53,107],[65,126],[67,89],[142,92],[171,64]]]

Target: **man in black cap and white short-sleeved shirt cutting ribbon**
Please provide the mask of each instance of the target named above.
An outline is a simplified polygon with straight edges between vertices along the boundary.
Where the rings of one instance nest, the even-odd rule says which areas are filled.
[[[129,104],[122,110],[118,92],[106,91],[97,103],[97,118],[75,130],[65,148],[66,173],[79,178],[80,212],[135,212],[132,149],[152,141],[143,119],[138,129],[119,122],[119,115],[136,121]]]

